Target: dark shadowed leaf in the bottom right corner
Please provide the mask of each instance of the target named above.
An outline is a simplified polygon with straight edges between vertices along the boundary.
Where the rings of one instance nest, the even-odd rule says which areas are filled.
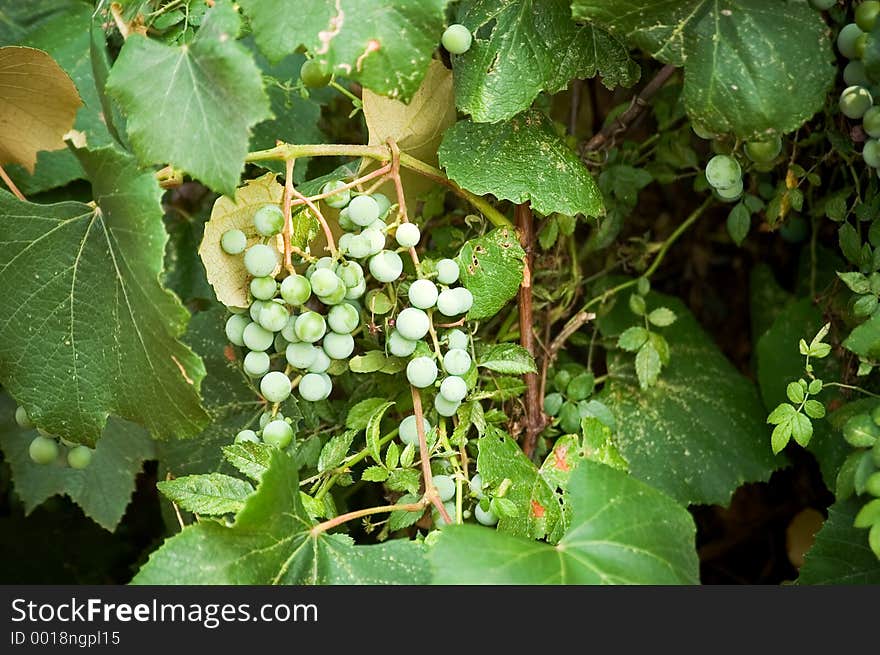
[[[862,501],[834,503],[801,567],[799,584],[880,584],[880,559],[868,546],[868,531],[853,527]]]

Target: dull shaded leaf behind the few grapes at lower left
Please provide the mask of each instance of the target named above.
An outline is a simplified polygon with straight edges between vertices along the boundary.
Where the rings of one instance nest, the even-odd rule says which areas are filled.
[[[63,460],[35,464],[28,447],[37,431],[13,421],[15,403],[0,396],[0,447],[12,469],[15,493],[28,514],[47,498],[66,494],[86,516],[106,530],[115,530],[135,488],[144,460],[155,457],[153,441],[140,426],[111,417],[84,469],[73,469]],[[66,448],[60,446],[64,453]],[[59,458],[60,459],[60,458]]]

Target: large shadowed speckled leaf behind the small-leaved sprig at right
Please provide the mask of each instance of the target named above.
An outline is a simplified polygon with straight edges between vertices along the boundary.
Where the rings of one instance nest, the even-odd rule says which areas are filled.
[[[605,337],[636,317],[618,300],[599,319]],[[632,474],[682,503],[730,500],[744,482],[766,480],[783,465],[770,451],[766,412],[755,386],[739,373],[676,298],[652,293],[648,307],[678,316],[664,330],[671,360],[648,390],[639,388],[628,353],[609,357],[604,402],[617,419],[615,444]]]

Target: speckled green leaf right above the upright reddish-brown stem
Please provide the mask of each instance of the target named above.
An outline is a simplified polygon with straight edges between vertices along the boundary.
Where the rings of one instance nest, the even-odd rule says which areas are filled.
[[[546,215],[602,213],[602,194],[549,118],[528,111],[496,124],[459,121],[446,130],[440,164],[459,186]]]

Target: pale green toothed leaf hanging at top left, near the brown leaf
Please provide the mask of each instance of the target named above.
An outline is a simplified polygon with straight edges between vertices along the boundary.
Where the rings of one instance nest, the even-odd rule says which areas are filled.
[[[271,117],[260,70],[235,40],[238,24],[231,5],[218,2],[186,45],[131,34],[107,81],[141,163],[170,163],[227,194],[250,128]]]

